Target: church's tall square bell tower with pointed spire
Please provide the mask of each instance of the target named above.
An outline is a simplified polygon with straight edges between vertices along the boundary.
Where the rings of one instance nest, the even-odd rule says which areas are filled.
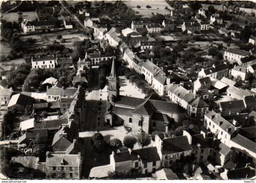
[[[111,103],[116,102],[119,98],[119,78],[116,74],[115,58],[112,61],[112,68],[108,77],[108,100]]]

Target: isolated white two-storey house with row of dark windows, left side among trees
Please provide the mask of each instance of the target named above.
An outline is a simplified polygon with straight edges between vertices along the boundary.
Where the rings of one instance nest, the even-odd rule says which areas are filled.
[[[56,60],[53,56],[31,58],[32,69],[55,68]]]

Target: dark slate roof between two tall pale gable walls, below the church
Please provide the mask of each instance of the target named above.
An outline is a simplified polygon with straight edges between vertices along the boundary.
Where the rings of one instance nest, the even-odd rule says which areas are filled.
[[[181,153],[183,151],[190,151],[191,146],[188,143],[187,136],[171,137],[163,139],[163,150],[162,154],[174,154]]]

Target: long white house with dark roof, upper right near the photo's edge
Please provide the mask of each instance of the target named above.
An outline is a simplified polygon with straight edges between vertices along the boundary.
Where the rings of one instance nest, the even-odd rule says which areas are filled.
[[[241,58],[249,56],[250,53],[239,49],[229,49],[224,52],[224,58],[230,63],[240,61]]]

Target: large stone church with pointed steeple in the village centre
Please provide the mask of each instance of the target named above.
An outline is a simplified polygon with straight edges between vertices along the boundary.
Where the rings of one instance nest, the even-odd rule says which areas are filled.
[[[180,122],[184,110],[176,103],[148,98],[135,98],[119,95],[119,78],[116,74],[115,60],[112,62],[108,78],[108,108],[105,122],[115,126],[124,125],[132,131],[168,132],[174,122]]]

